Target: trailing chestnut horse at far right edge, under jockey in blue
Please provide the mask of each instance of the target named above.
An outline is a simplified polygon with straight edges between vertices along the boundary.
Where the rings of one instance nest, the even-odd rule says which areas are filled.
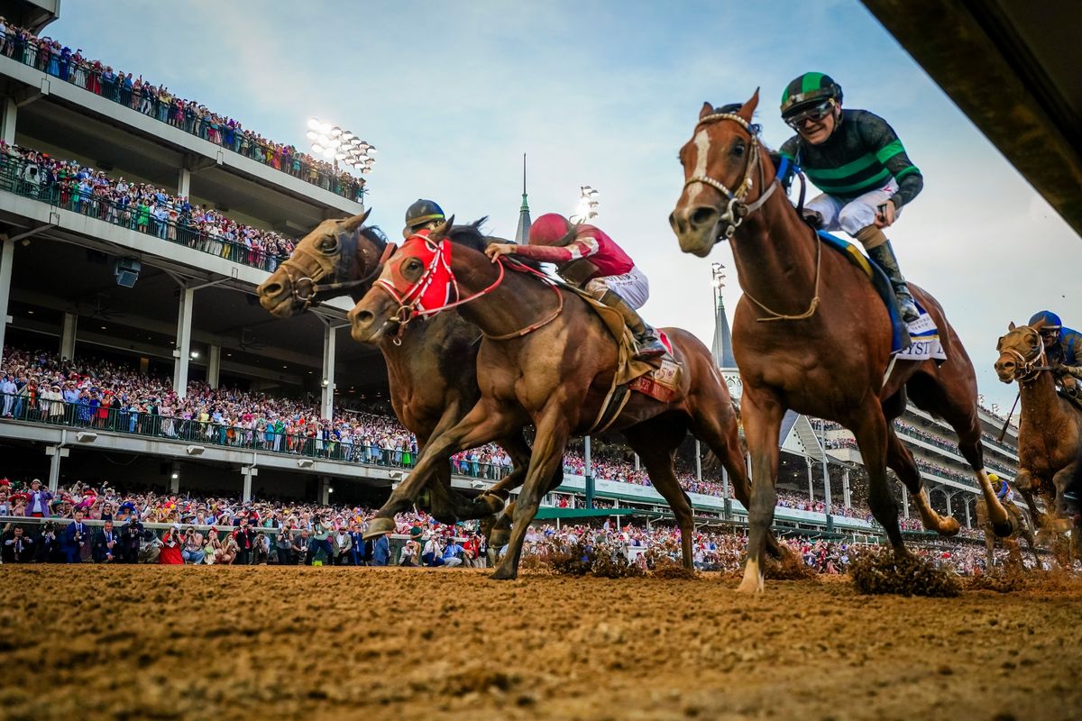
[[[1082,453],[1082,413],[1056,392],[1040,325],[1014,323],[995,349],[995,374],[1003,383],[1018,382],[1021,420],[1018,423],[1018,476],[1015,486],[1026,499],[1039,531],[1067,531],[1070,512],[1064,493],[1079,472]],[[1035,496],[1056,518],[1037,508]]]

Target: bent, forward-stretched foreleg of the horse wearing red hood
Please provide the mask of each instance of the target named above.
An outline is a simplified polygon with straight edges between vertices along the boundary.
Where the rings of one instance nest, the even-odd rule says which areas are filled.
[[[432,480],[439,464],[447,465],[452,454],[484,445],[507,432],[509,418],[498,408],[480,401],[462,420],[452,427],[437,430],[425,444],[424,453],[409,476],[406,477],[383,507],[377,512],[365,532],[365,537],[375,537],[395,529],[394,517],[408,509],[421,489]]]

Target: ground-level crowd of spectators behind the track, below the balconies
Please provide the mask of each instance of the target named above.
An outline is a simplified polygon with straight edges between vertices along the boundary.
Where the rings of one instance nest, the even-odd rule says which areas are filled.
[[[328,564],[484,566],[489,555],[475,522],[443,525],[423,511],[395,517],[403,543],[393,549],[386,535],[366,540],[374,511],[362,507],[320,506],[225,496],[190,497],[151,491],[122,493],[102,483],[81,482],[49,493],[38,480],[0,480],[0,517],[6,517],[0,550],[5,563],[94,561],[160,564]],[[27,521],[19,522],[25,518]],[[70,522],[57,523],[60,519]],[[93,521],[93,523],[89,523]],[[164,524],[159,535],[147,528]],[[847,542],[805,537],[782,539],[818,573],[844,573],[852,559]],[[542,559],[573,544],[616,548],[631,560],[678,560],[678,529],[611,521],[558,528],[535,524],[524,553]],[[500,549],[497,549],[499,552]],[[700,530],[692,539],[695,568],[735,571],[747,550],[741,533]],[[984,568],[984,549],[944,542],[919,550],[959,573]]]

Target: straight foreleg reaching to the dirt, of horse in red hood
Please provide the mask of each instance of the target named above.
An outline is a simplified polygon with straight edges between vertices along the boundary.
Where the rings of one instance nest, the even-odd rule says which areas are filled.
[[[565,418],[566,414],[562,408],[553,408],[538,424],[530,467],[526,472],[523,492],[515,502],[514,524],[511,528],[507,552],[492,574],[492,578],[510,580],[518,576],[518,560],[523,553],[526,532],[537,516],[538,506],[541,505],[541,498],[546,493],[555,471],[564,463],[564,449],[567,446],[568,436]]]

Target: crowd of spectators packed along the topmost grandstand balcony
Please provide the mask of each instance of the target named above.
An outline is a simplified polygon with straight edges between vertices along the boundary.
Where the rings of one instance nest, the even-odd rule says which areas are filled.
[[[214,112],[197,101],[182,98],[143,76],[87,57],[49,37],[37,37],[0,17],[0,53],[115,103],[168,123],[220,147],[288,173],[325,190],[362,199],[365,181],[313,158],[293,145],[275,143],[243,128],[240,121]]]

